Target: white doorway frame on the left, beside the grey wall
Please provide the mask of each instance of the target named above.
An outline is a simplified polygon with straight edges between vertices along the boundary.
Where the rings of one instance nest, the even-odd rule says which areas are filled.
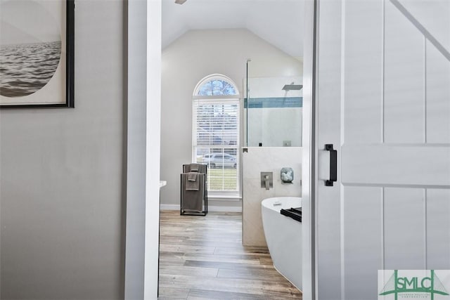
[[[161,6],[124,1],[124,299],[158,298]]]

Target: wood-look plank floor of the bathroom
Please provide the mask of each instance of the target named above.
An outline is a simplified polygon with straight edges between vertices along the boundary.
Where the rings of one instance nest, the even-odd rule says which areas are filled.
[[[161,211],[158,299],[302,299],[266,247],[243,247],[242,214]]]

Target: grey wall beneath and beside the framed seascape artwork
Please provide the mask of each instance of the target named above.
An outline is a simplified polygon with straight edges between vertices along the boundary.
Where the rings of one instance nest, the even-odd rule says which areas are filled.
[[[1,299],[120,299],[122,1],[77,1],[75,109],[0,112]]]

